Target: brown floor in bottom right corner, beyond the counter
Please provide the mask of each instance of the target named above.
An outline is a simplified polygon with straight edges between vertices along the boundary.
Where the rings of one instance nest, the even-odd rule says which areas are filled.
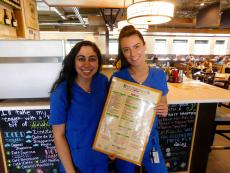
[[[230,141],[215,135],[214,145],[230,146]],[[212,150],[209,154],[206,173],[230,173],[230,150]]]

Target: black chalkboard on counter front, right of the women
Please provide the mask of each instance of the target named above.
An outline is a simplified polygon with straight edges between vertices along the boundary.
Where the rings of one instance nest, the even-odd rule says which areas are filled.
[[[197,104],[169,105],[167,118],[159,118],[161,149],[169,172],[188,171]]]

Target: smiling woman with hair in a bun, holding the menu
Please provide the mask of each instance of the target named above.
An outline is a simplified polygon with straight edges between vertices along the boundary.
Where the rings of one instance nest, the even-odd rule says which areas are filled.
[[[146,45],[142,34],[132,25],[125,26],[119,35],[118,58],[121,69],[112,75],[131,82],[139,83],[162,91],[160,102],[156,105],[156,118],[143,157],[143,164],[148,173],[166,173],[165,161],[159,145],[157,132],[158,116],[168,113],[168,86],[163,70],[150,68],[145,61]],[[111,78],[111,79],[112,79]],[[114,156],[110,156],[114,158]],[[116,159],[118,173],[134,173],[134,164]]]

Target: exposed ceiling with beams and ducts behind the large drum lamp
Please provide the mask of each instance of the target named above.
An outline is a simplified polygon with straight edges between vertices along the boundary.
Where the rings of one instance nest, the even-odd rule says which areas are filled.
[[[132,0],[36,0],[36,2],[41,31],[100,33],[106,28],[114,29],[117,22],[125,18],[126,7]],[[207,9],[211,7],[218,10],[214,15],[217,19],[211,17],[214,24],[210,24],[210,17],[207,18]],[[173,20],[166,24],[151,25],[148,31],[203,32],[204,30],[204,32],[229,34],[230,27],[223,29],[220,24],[221,16],[228,11],[230,11],[230,0],[175,0]]]

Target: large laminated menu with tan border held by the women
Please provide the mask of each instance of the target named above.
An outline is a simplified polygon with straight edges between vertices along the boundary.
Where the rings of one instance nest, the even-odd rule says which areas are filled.
[[[141,165],[162,92],[114,77],[93,148]]]

